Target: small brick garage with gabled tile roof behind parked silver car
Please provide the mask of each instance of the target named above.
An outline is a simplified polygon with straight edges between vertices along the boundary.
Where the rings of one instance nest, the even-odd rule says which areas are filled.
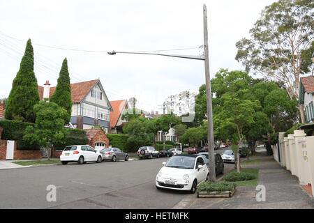
[[[87,139],[89,139],[89,146],[100,150],[109,146],[109,139],[101,128],[94,128],[85,130],[87,132]]]

